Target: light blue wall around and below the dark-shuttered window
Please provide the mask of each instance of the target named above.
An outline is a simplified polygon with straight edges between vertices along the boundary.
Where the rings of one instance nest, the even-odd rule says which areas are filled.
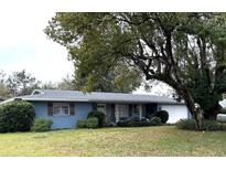
[[[86,119],[88,113],[93,109],[90,103],[75,103],[75,115],[73,116],[49,116],[47,103],[33,103],[36,117],[53,120],[53,129],[57,128],[75,128],[78,119]]]

